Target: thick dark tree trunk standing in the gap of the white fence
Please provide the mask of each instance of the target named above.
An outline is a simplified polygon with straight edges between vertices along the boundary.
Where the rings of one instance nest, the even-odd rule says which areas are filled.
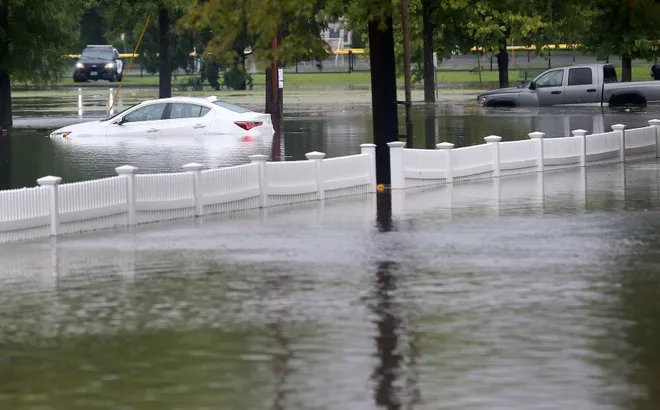
[[[392,16],[369,22],[369,59],[371,67],[371,110],[374,142],[376,144],[376,182],[389,185],[390,148],[388,142],[399,140],[397,116],[396,67],[394,64],[394,36]]]

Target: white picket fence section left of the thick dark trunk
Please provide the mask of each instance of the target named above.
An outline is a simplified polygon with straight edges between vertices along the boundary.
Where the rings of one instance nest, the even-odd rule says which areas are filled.
[[[250,164],[191,163],[166,174],[124,165],[118,176],[70,184],[43,177],[35,188],[0,191],[0,242],[376,192],[376,146],[361,149],[330,159],[310,152],[307,161],[253,155]]]

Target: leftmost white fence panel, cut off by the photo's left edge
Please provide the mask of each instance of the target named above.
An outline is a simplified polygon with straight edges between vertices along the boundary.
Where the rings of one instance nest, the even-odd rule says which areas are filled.
[[[48,225],[49,200],[43,187],[0,191],[0,232]]]

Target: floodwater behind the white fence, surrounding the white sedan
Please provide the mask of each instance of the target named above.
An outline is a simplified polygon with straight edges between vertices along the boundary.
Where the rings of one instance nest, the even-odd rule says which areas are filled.
[[[322,91],[319,91],[322,92]],[[369,91],[364,91],[368,93]],[[144,141],[61,141],[50,140],[50,131],[88,120],[103,118],[108,90],[85,91],[83,110],[78,112],[76,92],[60,97],[39,92],[23,93],[14,99],[15,131],[11,149],[0,149],[0,189],[34,186],[37,178],[56,175],[63,182],[115,175],[118,166],[130,164],[140,172],[180,171],[189,162],[207,166],[227,166],[245,163],[248,156],[262,153],[275,159],[300,160],[311,151],[325,152],[328,157],[359,152],[359,146],[373,142],[371,112],[368,104],[333,101],[322,104],[289,104],[285,107],[284,135],[273,150],[255,141],[227,146],[217,140],[186,143],[177,140]],[[120,96],[118,109],[143,99],[154,98],[152,91],[127,91]],[[232,98],[228,98],[232,101]],[[244,104],[262,111],[263,103]],[[368,99],[366,100],[368,101]],[[403,110],[400,110],[401,114]],[[488,135],[503,140],[527,138],[533,131],[549,137],[569,135],[582,128],[589,132],[609,131],[611,125],[646,126],[649,119],[660,118],[660,105],[650,105],[633,112],[610,108],[552,108],[484,110],[475,106],[474,96],[451,99],[434,107],[423,104],[413,109],[415,147],[433,148],[438,142],[449,141],[457,147],[480,144]],[[405,122],[399,119],[400,134]],[[0,141],[0,148],[7,145]],[[11,160],[7,152],[11,151]],[[11,162],[11,163],[10,163]]]

